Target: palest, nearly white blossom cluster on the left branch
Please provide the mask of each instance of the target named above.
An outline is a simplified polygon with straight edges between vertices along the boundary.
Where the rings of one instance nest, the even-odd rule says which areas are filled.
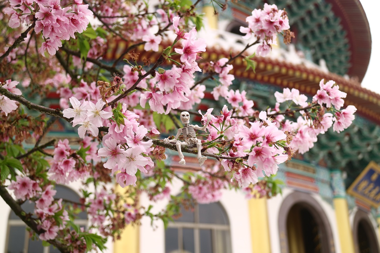
[[[81,125],[78,128],[79,137],[84,138],[86,132],[89,130],[92,136],[98,136],[98,127],[103,126],[102,119],[109,119],[112,117],[112,112],[103,110],[105,102],[98,100],[96,104],[91,101],[79,102],[74,96],[70,98],[70,103],[73,108],[63,110],[63,117],[73,119],[73,126]]]

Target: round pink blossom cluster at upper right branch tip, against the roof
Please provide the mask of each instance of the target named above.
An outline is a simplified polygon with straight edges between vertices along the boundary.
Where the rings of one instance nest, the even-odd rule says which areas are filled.
[[[271,51],[271,44],[276,43],[277,33],[281,33],[290,28],[289,19],[285,11],[279,10],[276,5],[264,3],[264,9],[254,9],[252,16],[248,16],[245,21],[248,27],[240,27],[240,32],[246,33],[243,38],[248,40],[255,36],[260,40],[256,53],[261,56],[267,55]]]

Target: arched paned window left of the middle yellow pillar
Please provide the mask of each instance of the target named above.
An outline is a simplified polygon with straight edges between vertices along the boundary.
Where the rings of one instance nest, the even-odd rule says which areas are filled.
[[[165,231],[165,253],[231,253],[230,223],[220,203],[197,204]]]

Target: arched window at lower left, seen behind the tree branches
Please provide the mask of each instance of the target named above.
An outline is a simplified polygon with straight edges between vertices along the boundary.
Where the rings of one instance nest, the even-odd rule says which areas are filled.
[[[66,199],[69,201],[79,202],[79,196],[73,190],[62,186],[56,185],[55,199]],[[21,205],[25,213],[33,213],[35,204],[34,202],[25,201]],[[87,213],[81,212],[78,215],[78,219],[75,223],[81,227],[87,226]],[[5,245],[6,253],[59,253],[60,251],[54,248],[52,245],[44,247],[42,241],[38,238],[30,238],[30,233],[27,231],[27,226],[13,211],[9,215],[7,238]],[[34,240],[32,240],[34,239]]]

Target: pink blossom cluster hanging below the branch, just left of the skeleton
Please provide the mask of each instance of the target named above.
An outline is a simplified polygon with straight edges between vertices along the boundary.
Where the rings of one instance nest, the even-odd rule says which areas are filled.
[[[99,149],[99,157],[108,157],[105,168],[115,172],[116,180],[121,187],[136,185],[137,170],[147,172],[146,167],[154,166],[147,155],[153,150],[152,141],[142,141],[148,130],[139,125],[139,115],[127,110],[123,104],[122,114],[125,116],[124,124],[109,123],[108,134],[103,136],[103,148]]]

